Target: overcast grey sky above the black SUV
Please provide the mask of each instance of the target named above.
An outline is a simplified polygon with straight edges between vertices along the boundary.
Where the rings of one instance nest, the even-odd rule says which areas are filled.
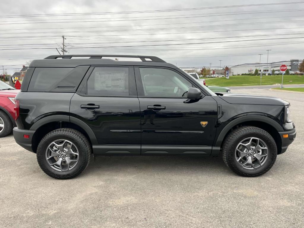
[[[299,3],[256,5],[290,2]],[[0,72],[2,65],[12,74],[28,60],[58,54],[62,35],[67,54],[154,55],[178,67],[256,63],[258,54],[266,63],[267,49],[269,62],[303,59],[302,2],[2,1]]]

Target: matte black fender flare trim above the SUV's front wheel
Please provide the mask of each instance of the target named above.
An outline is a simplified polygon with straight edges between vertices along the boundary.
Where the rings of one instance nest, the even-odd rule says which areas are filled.
[[[266,116],[258,116],[258,115],[249,115],[249,116],[242,116],[239,117],[237,119],[234,119],[233,121],[231,121],[230,123],[228,123],[224,129],[221,131],[221,133],[219,134],[218,138],[216,139],[216,143],[215,146],[216,147],[221,147],[222,146],[222,142],[226,136],[226,134],[231,130],[231,128],[233,128],[234,126],[240,124],[240,123],[244,123],[247,121],[259,121],[259,122],[264,122],[267,123],[269,125],[271,125],[272,127],[275,128],[275,130],[277,131],[284,131],[284,129],[282,128],[282,126],[276,122],[275,120],[266,117]]]

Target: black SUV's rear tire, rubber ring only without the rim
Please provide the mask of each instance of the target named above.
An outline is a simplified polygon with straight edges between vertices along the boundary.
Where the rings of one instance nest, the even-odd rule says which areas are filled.
[[[74,168],[69,171],[54,170],[47,162],[47,147],[55,140],[69,140],[78,148],[79,160]],[[37,147],[37,161],[40,168],[50,177],[57,179],[70,179],[81,174],[90,163],[92,147],[88,139],[79,131],[70,128],[60,128],[51,131],[42,138]]]

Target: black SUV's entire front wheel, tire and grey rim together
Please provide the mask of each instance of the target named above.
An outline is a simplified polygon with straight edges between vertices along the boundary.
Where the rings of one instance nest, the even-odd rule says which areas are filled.
[[[255,177],[266,173],[275,163],[276,157],[275,140],[258,127],[239,127],[223,143],[224,162],[241,176]]]

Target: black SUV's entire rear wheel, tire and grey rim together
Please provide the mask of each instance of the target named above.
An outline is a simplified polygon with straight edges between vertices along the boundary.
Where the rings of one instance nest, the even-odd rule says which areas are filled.
[[[91,154],[88,139],[70,128],[51,131],[37,147],[40,168],[57,179],[69,179],[81,174],[88,166]]]

